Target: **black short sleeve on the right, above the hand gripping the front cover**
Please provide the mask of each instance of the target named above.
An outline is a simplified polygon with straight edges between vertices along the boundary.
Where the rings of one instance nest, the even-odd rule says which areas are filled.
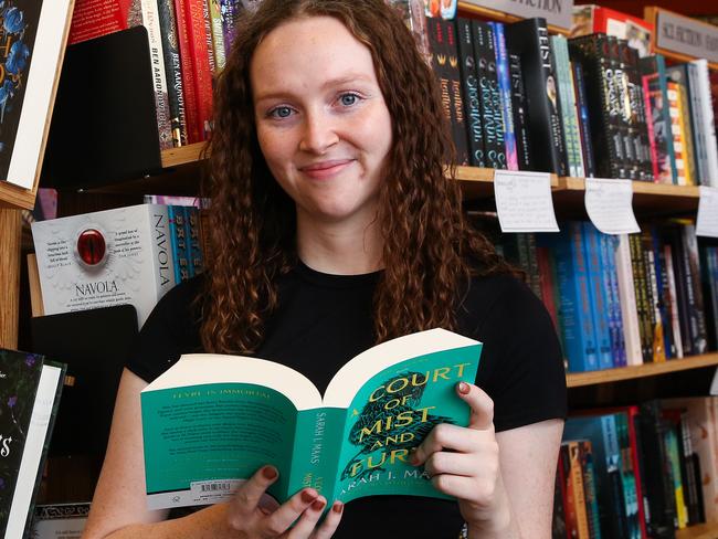
[[[477,327],[484,342],[477,384],[494,400],[494,425],[506,431],[567,415],[561,347],[546,307],[524,283],[501,277]]]

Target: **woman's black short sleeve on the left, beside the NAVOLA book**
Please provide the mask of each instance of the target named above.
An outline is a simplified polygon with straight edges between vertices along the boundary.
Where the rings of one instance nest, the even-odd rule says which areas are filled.
[[[126,367],[146,382],[169,369],[182,353],[201,351],[200,317],[194,305],[201,281],[186,281],[165,294],[139,331]]]

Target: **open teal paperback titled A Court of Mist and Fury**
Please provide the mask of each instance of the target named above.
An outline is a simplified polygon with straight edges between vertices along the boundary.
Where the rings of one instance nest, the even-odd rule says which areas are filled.
[[[330,504],[450,498],[409,454],[439,423],[468,424],[455,385],[474,382],[481,351],[444,329],[399,337],[347,362],[324,398],[279,363],[182,356],[141,393],[148,508],[224,501],[266,464],[279,471],[268,492],[281,503],[305,487]]]

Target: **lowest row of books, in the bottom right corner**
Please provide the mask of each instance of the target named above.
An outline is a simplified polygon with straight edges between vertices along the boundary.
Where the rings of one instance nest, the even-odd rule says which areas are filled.
[[[567,420],[553,539],[669,539],[718,521],[718,398],[654,400]]]

